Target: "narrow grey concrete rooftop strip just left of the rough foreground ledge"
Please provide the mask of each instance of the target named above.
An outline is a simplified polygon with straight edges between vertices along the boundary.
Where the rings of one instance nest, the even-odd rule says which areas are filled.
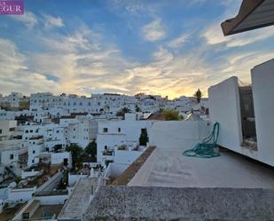
[[[59,213],[59,220],[81,220],[89,206],[90,196],[97,185],[97,178],[82,178],[74,187],[74,192]]]

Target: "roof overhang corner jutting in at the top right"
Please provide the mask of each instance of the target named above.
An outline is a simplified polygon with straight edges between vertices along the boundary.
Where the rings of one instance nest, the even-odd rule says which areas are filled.
[[[273,0],[243,0],[239,14],[222,23],[224,36],[274,25]]]

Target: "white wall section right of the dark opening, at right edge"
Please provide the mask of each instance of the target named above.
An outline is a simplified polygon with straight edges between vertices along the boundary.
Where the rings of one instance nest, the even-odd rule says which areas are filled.
[[[259,160],[274,166],[274,59],[251,70]]]

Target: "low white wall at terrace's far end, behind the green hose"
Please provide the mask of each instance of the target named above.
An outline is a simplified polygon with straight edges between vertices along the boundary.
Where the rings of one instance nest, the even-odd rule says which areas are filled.
[[[211,126],[205,121],[153,122],[148,128],[150,146],[164,149],[192,148],[208,135]]]

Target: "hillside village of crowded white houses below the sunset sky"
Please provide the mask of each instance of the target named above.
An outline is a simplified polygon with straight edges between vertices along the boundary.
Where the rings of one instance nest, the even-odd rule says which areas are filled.
[[[149,146],[148,138],[140,144],[142,133],[157,117],[162,121],[166,112],[179,116],[177,120],[208,116],[207,99],[198,103],[195,98],[168,100],[145,94],[86,98],[12,92],[0,97],[0,105],[3,207],[29,201],[44,192],[44,182],[52,180],[57,196],[59,188],[67,193],[62,189],[67,185],[62,184],[70,177],[65,180],[64,173],[90,176],[91,170],[104,172],[110,162],[125,170]]]

